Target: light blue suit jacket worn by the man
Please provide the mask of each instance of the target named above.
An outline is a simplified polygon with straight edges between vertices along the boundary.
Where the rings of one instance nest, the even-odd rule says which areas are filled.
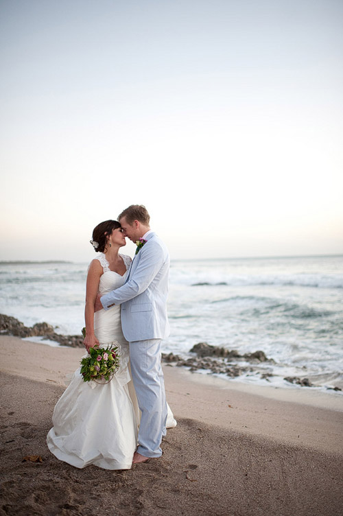
[[[101,298],[104,309],[121,305],[121,327],[129,342],[163,339],[169,335],[167,295],[169,253],[156,233],[132,260],[126,283]]]

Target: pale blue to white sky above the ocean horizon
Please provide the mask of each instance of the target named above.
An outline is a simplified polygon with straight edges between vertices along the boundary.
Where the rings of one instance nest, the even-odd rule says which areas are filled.
[[[343,2],[1,0],[0,260],[343,253]],[[133,253],[128,244],[127,253]]]

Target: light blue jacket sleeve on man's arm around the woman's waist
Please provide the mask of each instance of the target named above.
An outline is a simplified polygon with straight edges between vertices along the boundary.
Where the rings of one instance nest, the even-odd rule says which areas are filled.
[[[124,301],[139,296],[147,289],[165,262],[165,251],[156,242],[147,242],[139,253],[139,263],[129,281],[100,298],[104,309],[111,305],[121,305]]]

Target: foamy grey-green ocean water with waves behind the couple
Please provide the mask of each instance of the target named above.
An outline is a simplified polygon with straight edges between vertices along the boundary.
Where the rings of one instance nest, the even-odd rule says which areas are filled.
[[[80,334],[87,267],[0,263],[0,313]],[[299,376],[343,387],[343,256],[172,261],[168,313],[166,353],[207,342],[274,360],[242,363],[250,370],[231,382],[289,388],[283,378]]]

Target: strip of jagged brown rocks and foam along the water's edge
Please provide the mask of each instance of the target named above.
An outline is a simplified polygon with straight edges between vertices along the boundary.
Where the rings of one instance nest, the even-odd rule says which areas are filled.
[[[61,347],[84,349],[81,334],[64,335],[56,333],[55,329],[47,322],[38,322],[32,327],[26,327],[20,320],[0,314],[0,335],[2,336],[16,336],[29,342],[40,342],[53,347],[60,345]],[[163,344],[168,348],[166,342]],[[234,380],[245,386],[256,387],[261,395],[263,395],[263,389],[259,389],[260,387],[289,390],[291,386],[296,386],[296,388],[303,389],[305,387],[317,392],[327,392],[329,395],[340,392],[343,396],[343,379],[342,375],[338,375],[337,372],[329,376],[324,373],[318,376],[306,369],[300,371],[290,368],[283,374],[281,371],[274,373],[274,365],[277,369],[277,364],[261,350],[240,353],[237,349],[198,342],[185,353],[174,354],[170,351],[162,353],[162,362],[171,366],[188,368],[189,371],[198,372],[201,375],[211,374],[229,381]],[[324,381],[325,377],[326,381]],[[233,383],[230,382],[230,384]],[[332,403],[330,403],[331,405]]]

